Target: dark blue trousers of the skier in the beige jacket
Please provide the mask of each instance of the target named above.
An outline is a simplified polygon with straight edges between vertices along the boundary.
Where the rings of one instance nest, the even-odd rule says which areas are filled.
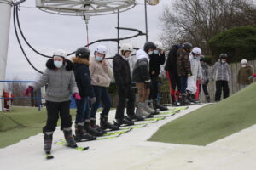
[[[96,111],[98,110],[101,102],[103,105],[102,116],[108,116],[108,112],[110,111],[112,104],[107,88],[101,86],[92,86],[92,88],[95,93],[96,102],[93,105],[91,105],[90,118],[96,117]]]

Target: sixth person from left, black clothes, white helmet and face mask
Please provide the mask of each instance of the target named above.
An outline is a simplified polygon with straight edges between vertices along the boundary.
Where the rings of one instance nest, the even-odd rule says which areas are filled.
[[[161,42],[154,42],[156,49],[153,54],[149,55],[149,73],[151,78],[151,87],[149,100],[153,100],[154,110],[160,109],[160,111],[168,110],[165,106],[160,105],[157,99],[158,95],[158,78],[160,75],[160,65],[164,65],[166,62],[166,55],[163,44]]]

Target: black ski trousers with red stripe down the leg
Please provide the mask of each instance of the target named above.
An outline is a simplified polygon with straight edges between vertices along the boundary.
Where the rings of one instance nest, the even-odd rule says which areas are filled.
[[[177,100],[177,98],[180,94],[180,80],[179,80],[177,74],[174,74],[171,71],[166,71],[166,76],[169,80],[170,94],[171,94],[171,99],[172,99],[172,104],[173,104]]]

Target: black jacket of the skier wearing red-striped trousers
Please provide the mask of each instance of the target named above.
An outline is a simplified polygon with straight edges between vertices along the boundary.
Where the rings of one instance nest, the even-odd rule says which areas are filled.
[[[165,70],[169,71],[171,74],[177,75],[177,50],[180,48],[180,45],[173,45],[168,54],[166,61]]]

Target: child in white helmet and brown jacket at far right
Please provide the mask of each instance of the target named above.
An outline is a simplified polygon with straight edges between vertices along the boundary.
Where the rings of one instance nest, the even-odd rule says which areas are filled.
[[[249,79],[253,75],[253,69],[248,65],[247,59],[241,60],[241,68],[238,71],[237,83],[240,84],[241,88],[246,88],[249,84],[253,82],[252,79]]]

